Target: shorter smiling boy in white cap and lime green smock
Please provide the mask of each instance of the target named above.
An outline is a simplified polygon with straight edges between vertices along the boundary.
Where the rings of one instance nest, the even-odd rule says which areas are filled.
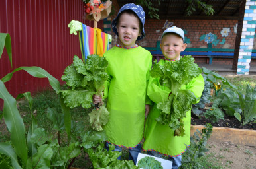
[[[177,61],[180,59],[180,52],[186,49],[184,39],[184,32],[181,28],[173,26],[164,31],[160,48],[165,59],[159,61],[161,65],[164,65],[168,61]],[[188,89],[195,94],[196,98],[200,98],[204,90],[204,79],[202,75],[192,79],[190,83],[182,86],[181,89]],[[169,88],[160,85],[159,79],[150,77],[147,94],[154,102],[154,105],[147,117],[143,149],[153,156],[169,156],[169,160],[173,162],[172,168],[176,169],[181,165],[182,153],[186,151],[185,145],[190,145],[191,112],[186,112],[186,118],[183,118],[184,137],[174,137],[173,129],[170,129],[168,125],[157,123],[155,119],[160,116],[160,110],[156,107],[157,103],[166,100],[170,92]]]

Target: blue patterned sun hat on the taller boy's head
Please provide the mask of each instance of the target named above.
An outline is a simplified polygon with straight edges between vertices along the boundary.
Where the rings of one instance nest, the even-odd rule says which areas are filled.
[[[145,37],[145,31],[144,31],[144,24],[145,24],[145,12],[143,11],[143,8],[139,5],[135,5],[134,3],[127,3],[125,5],[123,5],[123,7],[121,7],[121,9],[119,10],[119,12],[117,13],[117,17],[114,18],[113,22],[112,22],[112,29],[113,32],[115,32],[115,34],[117,34],[118,36],[118,32],[117,32],[117,18],[119,17],[120,13],[125,11],[125,10],[131,10],[133,11],[141,20],[142,23],[142,32],[141,32],[141,36],[138,36],[137,40],[141,40]]]

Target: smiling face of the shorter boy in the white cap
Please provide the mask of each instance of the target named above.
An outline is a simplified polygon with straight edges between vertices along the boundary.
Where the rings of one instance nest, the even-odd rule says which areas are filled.
[[[177,34],[166,34],[162,38],[160,43],[162,54],[166,59],[178,60],[180,58],[180,52],[186,49],[186,44]]]

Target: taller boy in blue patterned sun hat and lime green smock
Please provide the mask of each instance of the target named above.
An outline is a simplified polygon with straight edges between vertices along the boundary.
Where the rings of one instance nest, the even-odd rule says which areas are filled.
[[[151,53],[135,44],[136,40],[145,37],[144,23],[145,12],[141,6],[130,3],[121,7],[112,22],[113,32],[121,44],[104,54],[109,62],[109,80],[104,91],[104,98],[108,98],[107,110],[110,112],[109,122],[104,128],[107,145],[114,144],[115,151],[127,147],[129,160],[135,163],[141,152],[147,83],[152,65]],[[94,95],[94,104],[100,101],[101,98]]]

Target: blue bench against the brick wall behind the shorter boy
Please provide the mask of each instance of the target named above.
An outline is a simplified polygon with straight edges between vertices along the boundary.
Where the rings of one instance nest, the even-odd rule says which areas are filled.
[[[159,61],[161,57],[164,57],[159,45],[160,42],[158,41],[157,47],[145,47],[146,50],[151,52],[153,57],[156,57],[157,61]],[[234,51],[235,50],[233,49],[212,48],[212,44],[208,44],[208,48],[186,48],[180,55],[192,55],[192,57],[207,58],[207,63],[211,65],[214,58],[233,59]],[[256,59],[256,53],[252,53],[251,59]]]

